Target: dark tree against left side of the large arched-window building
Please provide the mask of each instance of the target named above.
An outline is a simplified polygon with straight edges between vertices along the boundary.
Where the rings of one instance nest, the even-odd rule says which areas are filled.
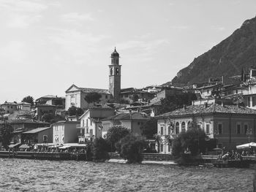
[[[157,119],[151,118],[146,121],[141,127],[142,135],[148,139],[154,138],[154,134],[157,134]]]

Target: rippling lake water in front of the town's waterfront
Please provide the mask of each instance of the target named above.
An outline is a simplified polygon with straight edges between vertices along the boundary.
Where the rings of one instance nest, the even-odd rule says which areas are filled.
[[[0,191],[252,191],[253,169],[0,158]]]

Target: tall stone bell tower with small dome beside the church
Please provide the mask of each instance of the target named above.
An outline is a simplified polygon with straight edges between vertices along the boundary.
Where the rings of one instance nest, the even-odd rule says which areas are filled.
[[[119,65],[119,53],[116,51],[111,54],[111,64],[109,65],[109,91],[113,99],[119,100],[121,93],[121,65]]]

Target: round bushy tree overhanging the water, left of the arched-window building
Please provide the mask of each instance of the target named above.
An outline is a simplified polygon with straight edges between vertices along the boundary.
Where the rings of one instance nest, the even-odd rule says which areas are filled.
[[[143,148],[145,141],[142,137],[135,137],[133,134],[127,134],[116,143],[116,148],[121,158],[127,159],[128,164],[141,163],[143,161]]]

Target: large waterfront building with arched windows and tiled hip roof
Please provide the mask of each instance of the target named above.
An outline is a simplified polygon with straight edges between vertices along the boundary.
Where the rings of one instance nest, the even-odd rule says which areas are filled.
[[[161,138],[159,153],[171,153],[171,142],[189,124],[203,129],[206,136],[217,140],[216,147],[235,149],[236,145],[255,142],[256,111],[237,105],[191,105],[157,116],[157,134]]]

